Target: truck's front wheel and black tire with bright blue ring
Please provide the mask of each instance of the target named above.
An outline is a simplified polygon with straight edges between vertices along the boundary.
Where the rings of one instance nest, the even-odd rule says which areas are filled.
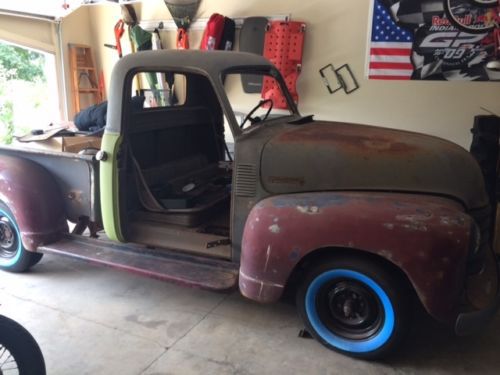
[[[376,359],[406,334],[410,295],[405,281],[378,262],[342,257],[310,269],[299,287],[297,308],[324,346]]]

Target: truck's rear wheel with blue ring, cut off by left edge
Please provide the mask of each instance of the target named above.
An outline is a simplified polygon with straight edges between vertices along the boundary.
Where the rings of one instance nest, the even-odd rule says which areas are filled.
[[[0,202],[0,269],[24,272],[37,264],[42,255],[24,248],[21,232],[12,211]]]

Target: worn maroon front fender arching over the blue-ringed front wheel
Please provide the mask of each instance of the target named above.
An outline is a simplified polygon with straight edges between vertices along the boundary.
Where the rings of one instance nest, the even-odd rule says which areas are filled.
[[[454,201],[391,193],[305,193],[267,198],[245,224],[241,292],[280,298],[294,267],[317,249],[385,258],[410,280],[435,318],[456,317],[472,219]]]

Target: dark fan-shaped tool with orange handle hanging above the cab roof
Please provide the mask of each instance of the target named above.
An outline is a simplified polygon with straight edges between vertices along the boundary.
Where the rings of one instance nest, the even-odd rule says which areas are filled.
[[[177,49],[189,49],[187,31],[196,16],[201,0],[164,0],[177,26]]]

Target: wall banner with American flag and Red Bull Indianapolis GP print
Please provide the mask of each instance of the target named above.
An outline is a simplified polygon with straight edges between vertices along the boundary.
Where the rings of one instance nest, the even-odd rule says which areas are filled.
[[[498,9],[477,10],[472,4],[468,0],[373,0],[368,78],[500,80],[500,32],[485,27],[498,21],[491,21],[498,17]]]

